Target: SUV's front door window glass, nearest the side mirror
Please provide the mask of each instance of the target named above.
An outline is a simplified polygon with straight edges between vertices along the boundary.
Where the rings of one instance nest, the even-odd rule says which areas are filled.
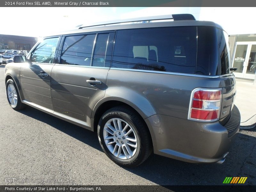
[[[44,39],[31,53],[32,62],[53,63],[59,37]]]

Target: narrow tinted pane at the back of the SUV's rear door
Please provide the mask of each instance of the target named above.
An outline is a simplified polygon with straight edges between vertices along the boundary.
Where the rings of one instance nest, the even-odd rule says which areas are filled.
[[[104,67],[107,44],[108,34],[99,34],[97,36],[97,41],[93,54],[92,66]]]

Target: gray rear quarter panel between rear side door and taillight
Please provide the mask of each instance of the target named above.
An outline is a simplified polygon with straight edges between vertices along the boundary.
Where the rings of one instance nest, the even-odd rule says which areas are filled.
[[[187,119],[193,89],[228,87],[234,82],[234,76],[211,78],[111,68],[105,97],[115,96],[128,101],[141,111],[144,119],[155,114]],[[232,93],[225,91],[225,94]]]

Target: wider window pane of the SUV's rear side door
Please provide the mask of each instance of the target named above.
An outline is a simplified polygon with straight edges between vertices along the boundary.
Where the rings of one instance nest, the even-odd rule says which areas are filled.
[[[67,36],[65,38],[60,64],[90,66],[96,35]]]

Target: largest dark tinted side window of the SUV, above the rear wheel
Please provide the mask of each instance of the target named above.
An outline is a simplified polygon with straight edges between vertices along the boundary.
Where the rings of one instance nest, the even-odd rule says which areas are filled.
[[[195,74],[196,27],[119,30],[112,67]]]

